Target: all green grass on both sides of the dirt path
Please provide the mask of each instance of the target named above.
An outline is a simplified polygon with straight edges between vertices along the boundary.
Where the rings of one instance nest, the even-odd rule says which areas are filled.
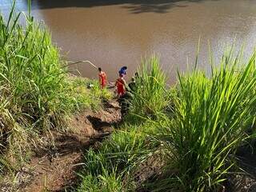
[[[30,15],[25,26],[19,25],[21,15],[13,6],[7,21],[0,16],[2,172],[16,169],[8,152],[26,161],[27,155],[20,154],[38,146],[40,134],[65,129],[70,114],[97,110],[102,99],[111,98],[96,81],[68,75],[49,31]],[[178,73],[171,90],[159,58],[144,60],[126,123],[98,149],[86,151],[78,191],[134,191],[134,171],[156,152],[165,166],[148,189],[222,190],[238,146],[254,138],[255,55],[244,63],[230,50],[218,68],[212,66],[211,75],[196,68]],[[88,84],[94,86],[88,89]]]

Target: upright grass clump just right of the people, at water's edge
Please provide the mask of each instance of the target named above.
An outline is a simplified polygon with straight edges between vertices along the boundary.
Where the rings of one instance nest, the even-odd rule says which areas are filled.
[[[157,118],[169,102],[166,93],[166,75],[161,69],[159,57],[152,56],[144,59],[138,68],[138,77],[135,77],[136,86],[132,92],[130,114],[144,118]],[[132,115],[131,118],[135,118]]]

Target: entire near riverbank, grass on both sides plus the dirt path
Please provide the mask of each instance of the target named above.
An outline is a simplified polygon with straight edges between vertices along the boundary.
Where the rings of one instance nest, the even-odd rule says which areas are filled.
[[[255,51],[231,47],[210,74],[197,57],[171,87],[158,56],[142,60],[119,124],[113,92],[71,76],[48,30],[19,16],[0,17],[2,190],[254,190]]]

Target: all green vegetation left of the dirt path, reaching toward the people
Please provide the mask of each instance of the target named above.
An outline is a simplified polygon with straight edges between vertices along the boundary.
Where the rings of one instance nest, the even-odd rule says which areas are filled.
[[[49,31],[26,15],[19,24],[22,13],[15,14],[14,6],[7,21],[0,15],[0,150],[5,157],[38,146],[38,135],[65,129],[71,113],[97,109],[102,98],[111,97],[95,81],[70,77]],[[15,157],[23,161],[26,154]],[[13,168],[5,157],[0,165]]]

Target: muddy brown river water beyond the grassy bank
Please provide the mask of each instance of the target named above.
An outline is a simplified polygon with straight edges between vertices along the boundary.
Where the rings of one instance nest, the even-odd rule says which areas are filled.
[[[26,0],[18,0],[26,10]],[[6,14],[10,0],[0,0]],[[129,77],[141,58],[157,53],[170,82],[176,69],[194,65],[210,70],[208,44],[218,61],[226,45],[245,43],[249,56],[256,42],[256,0],[33,0],[35,18],[43,20],[54,42],[70,61],[89,59],[106,70],[111,81],[118,68],[128,66]],[[188,65],[187,65],[188,63]],[[97,78],[88,64],[73,66],[83,77]]]

